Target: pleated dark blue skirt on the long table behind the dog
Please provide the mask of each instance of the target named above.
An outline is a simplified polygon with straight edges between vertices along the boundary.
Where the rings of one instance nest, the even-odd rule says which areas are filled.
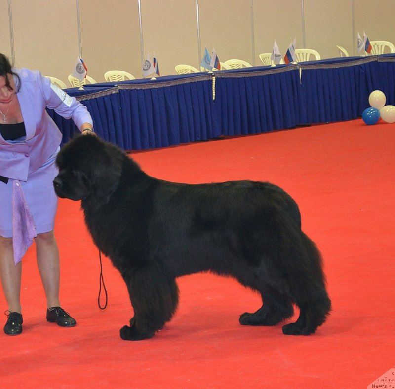
[[[67,89],[91,113],[95,131],[125,150],[256,134],[297,125],[356,119],[369,94],[395,103],[395,54],[344,57],[89,84]],[[71,120],[48,110],[67,142]]]

